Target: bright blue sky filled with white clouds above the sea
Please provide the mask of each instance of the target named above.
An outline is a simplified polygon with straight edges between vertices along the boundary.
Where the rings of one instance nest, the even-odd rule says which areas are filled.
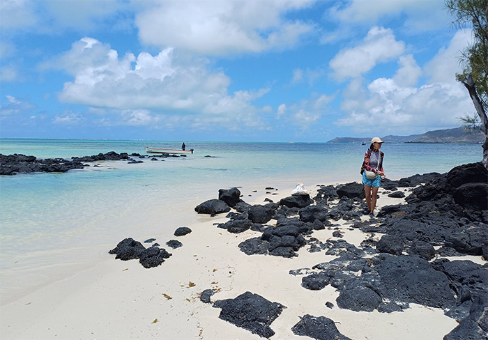
[[[0,0],[0,137],[305,141],[475,110],[443,0]]]

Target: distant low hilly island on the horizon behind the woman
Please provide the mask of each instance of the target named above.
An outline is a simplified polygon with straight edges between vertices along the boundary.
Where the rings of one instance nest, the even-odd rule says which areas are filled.
[[[369,144],[372,137],[337,137],[327,143],[365,143]],[[454,129],[435,130],[425,134],[411,134],[409,136],[380,137],[389,143],[453,143],[453,144],[482,144],[485,135],[482,132],[469,134],[462,127]]]

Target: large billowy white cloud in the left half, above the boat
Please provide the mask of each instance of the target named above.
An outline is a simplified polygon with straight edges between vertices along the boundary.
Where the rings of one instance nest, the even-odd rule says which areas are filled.
[[[82,38],[50,67],[73,75],[59,100],[90,107],[132,110],[126,121],[153,123],[142,113],[206,114],[239,116],[245,124],[258,121],[259,109],[251,103],[269,90],[236,91],[229,95],[230,79],[223,72],[208,70],[205,59],[180,58],[173,49],[152,56],[146,52],[123,58],[107,44]],[[247,117],[247,118],[245,118]]]

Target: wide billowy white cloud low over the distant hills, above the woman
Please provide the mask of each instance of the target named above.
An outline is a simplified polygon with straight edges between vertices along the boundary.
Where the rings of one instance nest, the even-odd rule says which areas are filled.
[[[455,82],[415,88],[379,78],[367,86],[363,98],[342,103],[342,109],[350,113],[335,123],[357,132],[374,129],[385,134],[413,134],[455,126],[469,105],[462,86]]]

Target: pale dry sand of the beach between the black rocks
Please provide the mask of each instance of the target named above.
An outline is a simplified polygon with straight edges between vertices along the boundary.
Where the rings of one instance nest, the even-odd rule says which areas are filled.
[[[307,188],[314,196],[314,187]],[[291,189],[282,188],[275,192],[277,195],[265,194],[264,188],[257,193],[241,191],[247,203],[264,204],[266,197],[278,201],[289,196]],[[208,199],[214,198],[217,191],[218,188]],[[404,202],[388,198],[382,190],[379,194],[379,208]],[[188,206],[188,213],[196,214],[194,208]],[[212,301],[250,291],[286,306],[270,325],[275,331],[273,339],[310,339],[291,332],[291,327],[305,314],[334,320],[344,336],[356,340],[442,339],[458,325],[441,309],[415,304],[404,312],[391,314],[340,309],[335,302],[338,295],[335,288],[326,286],[321,291],[310,291],[300,286],[301,276],[289,274],[289,270],[311,268],[335,256],[307,252],[307,246],[298,251],[296,258],[247,256],[238,249],[238,244],[261,233],[248,230],[231,234],[213,225],[227,222],[224,215],[200,215],[196,224],[188,225],[192,233],[174,237],[183,243],[178,249],[167,247],[166,239],[157,239],[172,256],[156,268],[145,269],[138,261],[115,260],[114,255],[107,253],[104,261],[89,270],[1,307],[0,338],[262,339],[221,320],[220,309],[201,302],[199,296],[208,288],[217,291]],[[367,238],[358,229],[349,230],[347,222],[338,223],[347,242],[358,246]],[[333,231],[314,231],[312,237],[324,241],[333,238]],[[114,240],[107,252],[119,241]],[[466,258],[481,263],[480,258]],[[326,302],[333,302],[335,307],[326,307]]]

